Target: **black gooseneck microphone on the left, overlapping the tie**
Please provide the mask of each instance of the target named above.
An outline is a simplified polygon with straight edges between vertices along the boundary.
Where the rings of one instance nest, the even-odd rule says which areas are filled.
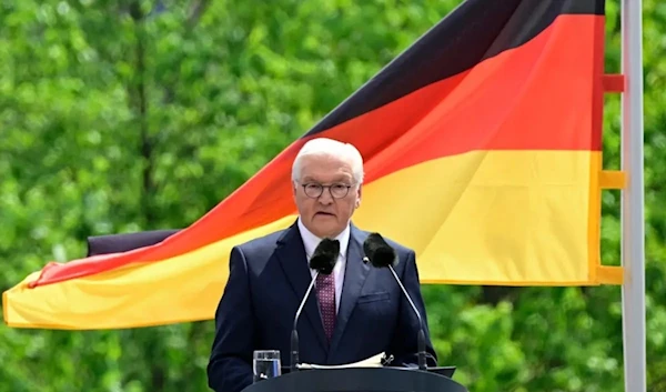
[[[330,275],[333,272],[333,268],[337,262],[337,254],[340,254],[340,241],[323,239],[319,245],[314,249],[312,253],[312,258],[310,258],[310,268],[313,269],[314,277],[312,278],[312,282],[310,282],[310,287],[301,301],[301,305],[296,311],[296,315],[294,316],[294,326],[292,329],[292,339],[291,339],[291,371],[295,372],[297,370],[299,364],[299,331],[296,331],[296,324],[299,323],[299,318],[301,316],[301,312],[303,311],[303,306],[305,306],[305,301],[307,301],[307,296],[314,287],[314,282],[316,281],[316,277],[320,273],[324,275]]]

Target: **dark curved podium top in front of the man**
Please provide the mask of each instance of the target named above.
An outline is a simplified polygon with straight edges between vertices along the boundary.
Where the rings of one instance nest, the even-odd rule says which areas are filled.
[[[243,392],[468,392],[452,379],[405,368],[313,369],[256,382]]]

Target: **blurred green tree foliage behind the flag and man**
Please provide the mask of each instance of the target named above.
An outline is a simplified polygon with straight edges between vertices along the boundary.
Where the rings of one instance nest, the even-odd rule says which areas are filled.
[[[457,0],[0,0],[0,290],[88,235],[184,228]],[[607,1],[607,72],[619,71]],[[666,4],[644,0],[648,390],[666,391]],[[605,164],[619,165],[607,96]],[[619,193],[603,260],[619,263]],[[620,289],[425,287],[442,364],[471,391],[624,391]],[[75,305],[75,304],[72,304]],[[212,322],[0,325],[0,390],[205,391]]]

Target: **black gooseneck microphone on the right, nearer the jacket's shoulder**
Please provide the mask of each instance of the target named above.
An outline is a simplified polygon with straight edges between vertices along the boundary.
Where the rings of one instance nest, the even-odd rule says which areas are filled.
[[[414,313],[416,313],[416,318],[418,319],[418,369],[426,370],[427,364],[425,362],[426,353],[423,319],[421,318],[421,313],[418,313],[416,305],[414,305],[412,298],[407,293],[407,290],[405,290],[405,287],[402,284],[400,278],[397,278],[397,274],[393,269],[393,265],[397,263],[397,253],[395,253],[395,249],[393,249],[393,247],[391,247],[381,234],[371,233],[370,235],[367,235],[367,239],[365,239],[365,241],[363,242],[363,251],[365,252],[363,262],[370,262],[375,268],[389,268],[389,270],[391,270],[391,273],[393,273],[393,278],[395,279],[403,293],[407,298],[407,301],[410,301],[412,310],[414,310]]]

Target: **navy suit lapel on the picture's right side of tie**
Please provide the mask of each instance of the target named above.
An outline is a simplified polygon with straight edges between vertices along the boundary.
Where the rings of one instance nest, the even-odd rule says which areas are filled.
[[[351,227],[350,243],[346,254],[346,265],[344,272],[344,283],[342,285],[342,295],[340,300],[340,310],[335,322],[335,330],[331,339],[331,350],[329,358],[335,352],[347,321],[356,305],[356,300],[361,294],[361,289],[365,283],[365,278],[370,271],[370,265],[363,262],[363,245],[361,232],[353,224]]]

